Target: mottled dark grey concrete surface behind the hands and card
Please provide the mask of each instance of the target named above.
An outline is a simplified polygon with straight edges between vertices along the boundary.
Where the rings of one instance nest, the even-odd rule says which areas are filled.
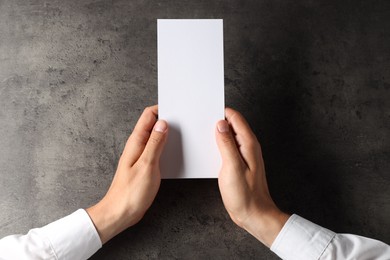
[[[0,236],[97,202],[157,102],[156,19],[223,18],[226,103],[277,203],[390,243],[390,2],[0,0]],[[277,259],[216,180],[163,181],[93,259]]]

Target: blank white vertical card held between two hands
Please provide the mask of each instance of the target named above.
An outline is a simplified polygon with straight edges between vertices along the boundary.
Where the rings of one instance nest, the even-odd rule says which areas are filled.
[[[224,119],[223,21],[158,19],[158,113],[169,125],[161,176],[216,178]]]

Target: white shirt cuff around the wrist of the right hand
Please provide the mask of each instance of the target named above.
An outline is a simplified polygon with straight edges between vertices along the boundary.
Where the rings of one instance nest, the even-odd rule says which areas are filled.
[[[271,250],[282,259],[319,259],[335,235],[294,214],[272,243]]]

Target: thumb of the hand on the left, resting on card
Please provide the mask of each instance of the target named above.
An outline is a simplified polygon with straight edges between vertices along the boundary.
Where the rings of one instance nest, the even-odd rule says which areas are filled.
[[[149,140],[141,155],[142,161],[149,165],[159,162],[168,134],[168,124],[164,120],[158,120],[153,127]]]

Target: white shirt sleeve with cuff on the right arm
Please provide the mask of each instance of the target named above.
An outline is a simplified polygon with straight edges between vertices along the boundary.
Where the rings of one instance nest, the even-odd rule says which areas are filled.
[[[356,235],[336,234],[292,215],[271,246],[285,260],[390,259],[390,246]]]

